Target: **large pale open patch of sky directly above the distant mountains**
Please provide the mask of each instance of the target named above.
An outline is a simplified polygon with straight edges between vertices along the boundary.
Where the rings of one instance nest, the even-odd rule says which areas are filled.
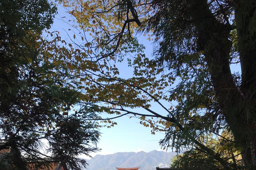
[[[139,123],[137,118],[124,116],[116,120],[117,125],[113,128],[101,129],[102,135],[98,147],[101,148],[99,154],[114,154],[115,152],[138,152],[159,150],[159,139],[164,137],[163,133],[152,135],[150,128],[146,128]]]

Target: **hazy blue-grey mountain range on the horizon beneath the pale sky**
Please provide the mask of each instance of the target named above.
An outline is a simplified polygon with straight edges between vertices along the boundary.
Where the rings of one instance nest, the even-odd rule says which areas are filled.
[[[169,166],[175,152],[153,150],[151,152],[118,152],[111,155],[96,155],[87,160],[87,170],[115,170],[116,167],[138,167],[139,170],[156,170],[156,166]]]

